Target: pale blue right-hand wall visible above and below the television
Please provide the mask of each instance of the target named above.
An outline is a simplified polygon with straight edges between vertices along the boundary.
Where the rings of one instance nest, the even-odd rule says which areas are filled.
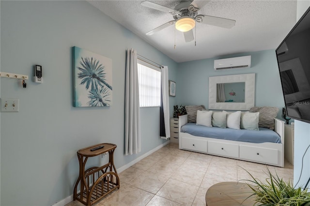
[[[297,1],[297,21],[309,6],[310,0]],[[294,122],[294,185],[299,181],[296,185],[298,187],[305,186],[310,177],[310,149],[305,153],[310,145],[310,124],[298,120]]]

